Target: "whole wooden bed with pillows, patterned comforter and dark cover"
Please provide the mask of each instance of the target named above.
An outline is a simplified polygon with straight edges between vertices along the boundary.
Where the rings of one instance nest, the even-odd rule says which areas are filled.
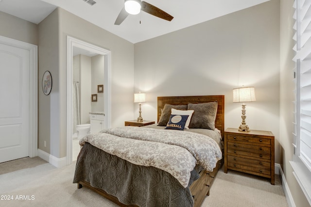
[[[216,117],[213,126],[216,128],[215,130],[209,130],[208,133],[213,133],[220,136],[220,139],[224,138],[224,95],[206,95],[206,96],[165,96],[165,97],[158,97],[157,98],[157,123],[160,124],[163,121],[164,114],[168,112],[168,109],[173,105],[173,108],[178,111],[178,107],[175,106],[187,106],[192,107],[194,109],[194,113],[200,110],[201,104],[203,103],[216,103]],[[192,104],[192,105],[188,105]],[[199,108],[195,108],[200,106]],[[205,106],[205,105],[204,105]],[[190,111],[183,109],[184,111]],[[170,109],[171,111],[171,109]],[[192,114],[194,114],[192,113]],[[198,114],[198,113],[197,113]],[[174,116],[172,114],[168,114],[170,116]],[[179,115],[178,115],[179,116]],[[176,117],[176,116],[175,116]],[[183,120],[188,118],[188,115],[180,115]],[[186,117],[186,118],[185,118]],[[195,116],[192,115],[193,120]],[[200,116],[199,116],[200,117]],[[171,118],[169,117],[169,123],[171,123]],[[192,121],[191,118],[191,121]],[[196,117],[198,118],[198,117]],[[201,117],[200,117],[201,119]],[[173,120],[172,120],[173,121]],[[173,122],[172,122],[173,123]],[[188,123],[189,124],[189,123]],[[78,155],[77,164],[75,175],[73,179],[73,183],[78,184],[78,188],[86,187],[94,190],[95,192],[101,194],[105,198],[113,201],[114,203],[118,204],[121,207],[152,207],[152,206],[168,206],[168,207],[200,207],[205,196],[209,195],[213,179],[215,178],[218,170],[221,168],[224,159],[219,157],[219,152],[217,151],[218,158],[216,162],[212,165],[214,168],[207,166],[209,163],[213,163],[212,159],[210,159],[207,163],[202,164],[202,167],[198,163],[205,162],[202,161],[203,158],[199,158],[196,161],[194,168],[190,172],[187,173],[180,173],[173,171],[176,166],[174,165],[184,165],[184,163],[193,162],[191,160],[191,156],[188,157],[187,153],[191,152],[192,149],[188,149],[185,151],[179,152],[180,146],[170,146],[166,147],[164,144],[167,144],[167,140],[172,136],[174,137],[179,136],[179,134],[184,133],[188,134],[191,139],[192,136],[195,139],[202,139],[205,135],[202,133],[206,133],[204,129],[193,129],[191,128],[195,126],[192,122],[190,122],[189,130],[179,131],[179,130],[163,130],[166,126],[157,126],[149,125],[138,129],[137,127],[122,127],[117,129],[108,129],[105,130],[104,133],[99,134],[91,134],[87,137],[83,138],[84,140],[81,141],[83,143],[83,147]],[[167,125],[169,126],[169,125]],[[176,127],[175,125],[171,125]],[[179,127],[179,126],[178,126]],[[135,128],[135,129],[134,129]],[[200,127],[199,127],[200,128]],[[123,140],[120,134],[125,134],[125,136],[132,136],[133,131],[135,134],[138,134],[135,137],[135,141],[128,141],[128,137]],[[191,131],[197,131],[195,133]],[[204,131],[204,132],[201,132]],[[213,131],[213,132],[212,132]],[[168,133],[165,135],[165,139],[163,133]],[[102,140],[102,137],[106,137]],[[145,136],[145,134],[147,134]],[[153,134],[153,135],[151,135]],[[155,136],[156,139],[164,140],[165,143],[154,143],[153,140],[146,141],[145,139],[149,139],[149,137]],[[139,139],[137,138],[139,137]],[[142,137],[142,138],[141,138]],[[118,156],[114,154],[116,150],[116,144],[121,139],[123,147],[118,147],[121,154]],[[138,140],[137,140],[138,139]],[[141,140],[142,139],[142,140]],[[217,139],[217,138],[216,138]],[[93,141],[92,141],[93,140]],[[95,141],[94,141],[95,140]],[[150,142],[151,141],[151,142]],[[92,143],[93,142],[93,143]],[[104,145],[104,150],[101,149],[102,145],[96,145],[102,142]],[[144,151],[148,151],[149,154],[152,154],[153,150],[158,151],[157,149],[164,149],[167,148],[167,151],[175,150],[173,148],[177,148],[178,152],[174,152],[177,156],[180,155],[182,158],[178,158],[178,160],[182,160],[183,164],[177,163],[174,161],[174,158],[169,158],[166,161],[170,163],[172,171],[164,169],[167,167],[167,163],[165,161],[165,165],[161,164],[158,161],[151,161],[151,163],[155,163],[155,166],[149,166],[148,164],[144,165],[145,161],[140,159],[140,154],[143,154],[144,151],[139,152],[135,150],[137,153],[131,160],[128,159],[128,156],[125,155],[124,151],[126,150],[127,146],[130,146],[131,143],[137,142],[138,145],[144,149]],[[145,144],[148,142],[148,144]],[[162,141],[161,141],[162,142]],[[171,141],[170,141],[171,142]],[[179,142],[179,141],[178,141]],[[204,141],[205,142],[205,141]],[[212,142],[208,139],[208,142]],[[92,143],[92,144],[90,144]],[[95,143],[95,144],[94,144]],[[183,143],[178,143],[177,145],[183,145],[187,143],[187,140],[183,140]],[[215,142],[218,145],[218,148],[222,150],[222,141]],[[188,145],[188,144],[187,144]],[[202,142],[202,146],[205,145]],[[97,147],[96,147],[97,146]],[[119,145],[118,145],[119,146]],[[159,147],[160,146],[160,147]],[[130,147],[128,147],[130,148]],[[120,150],[121,149],[121,150]],[[169,152],[161,151],[159,154],[164,154],[164,156],[172,157],[171,155],[167,155]],[[152,153],[151,153],[152,152]],[[134,152],[131,152],[134,153]],[[192,152],[191,152],[192,153]],[[199,152],[194,152],[199,154]],[[214,152],[213,152],[214,153]],[[174,155],[175,155],[174,154]],[[186,156],[187,155],[187,156]],[[124,156],[124,157],[122,157]],[[146,155],[147,156],[147,155]],[[152,154],[153,156],[153,154]],[[185,156],[185,157],[183,157]],[[199,156],[199,155],[197,155]],[[142,163],[139,163],[142,162]],[[172,165],[174,167],[172,167]],[[186,164],[185,164],[186,165]],[[193,164],[191,164],[193,165]],[[162,168],[162,166],[164,166]],[[177,168],[178,168],[177,167]],[[192,166],[193,167],[193,166]],[[210,169],[210,170],[207,170]]]

